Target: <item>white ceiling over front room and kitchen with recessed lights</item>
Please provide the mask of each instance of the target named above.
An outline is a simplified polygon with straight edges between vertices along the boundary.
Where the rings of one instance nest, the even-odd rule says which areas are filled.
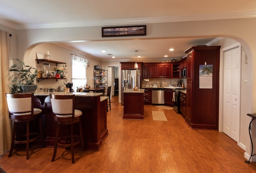
[[[0,24],[20,29],[76,26],[129,26],[157,22],[256,17],[255,0],[0,0]],[[182,58],[184,50],[215,38],[69,42],[58,45],[99,60]],[[169,49],[174,48],[173,52]],[[106,50],[106,53],[102,53]],[[140,59],[137,59],[140,61]]]

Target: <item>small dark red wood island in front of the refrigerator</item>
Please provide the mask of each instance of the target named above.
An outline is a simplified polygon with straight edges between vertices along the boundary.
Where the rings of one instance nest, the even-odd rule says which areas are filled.
[[[126,89],[124,93],[123,119],[144,119],[145,89]]]

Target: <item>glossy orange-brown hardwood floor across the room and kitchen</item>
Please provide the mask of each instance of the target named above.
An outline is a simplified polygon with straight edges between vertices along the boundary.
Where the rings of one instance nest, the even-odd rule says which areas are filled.
[[[174,110],[145,105],[144,120],[122,119],[121,103],[112,97],[109,135],[100,151],[30,147],[0,158],[7,173],[255,173],[256,163],[244,163],[244,150],[219,131],[195,130]],[[152,111],[164,111],[168,121],[154,121]]]

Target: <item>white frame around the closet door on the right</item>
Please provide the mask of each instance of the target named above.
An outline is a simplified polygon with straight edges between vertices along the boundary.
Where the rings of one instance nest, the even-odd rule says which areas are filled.
[[[219,131],[223,132],[223,104],[224,104],[224,52],[226,52],[227,50],[233,49],[239,47],[241,49],[241,44],[240,43],[235,43],[232,44],[230,46],[224,47],[222,49],[220,49],[220,88],[219,88]],[[242,56],[240,54],[240,60],[241,60]],[[241,68],[241,67],[240,67]],[[241,76],[240,76],[241,78]],[[240,85],[241,85],[241,79],[240,79]],[[240,96],[241,96],[241,88],[240,88]],[[240,97],[240,108],[241,108],[241,97]],[[240,109],[240,116],[239,119],[241,118],[241,109]],[[240,142],[240,126],[239,125],[239,138],[238,138],[238,142]]]

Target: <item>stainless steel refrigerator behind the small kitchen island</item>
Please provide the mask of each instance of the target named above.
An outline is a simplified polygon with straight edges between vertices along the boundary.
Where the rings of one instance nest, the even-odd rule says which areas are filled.
[[[126,89],[136,86],[140,88],[140,70],[122,70],[122,105],[124,104],[124,93]]]

